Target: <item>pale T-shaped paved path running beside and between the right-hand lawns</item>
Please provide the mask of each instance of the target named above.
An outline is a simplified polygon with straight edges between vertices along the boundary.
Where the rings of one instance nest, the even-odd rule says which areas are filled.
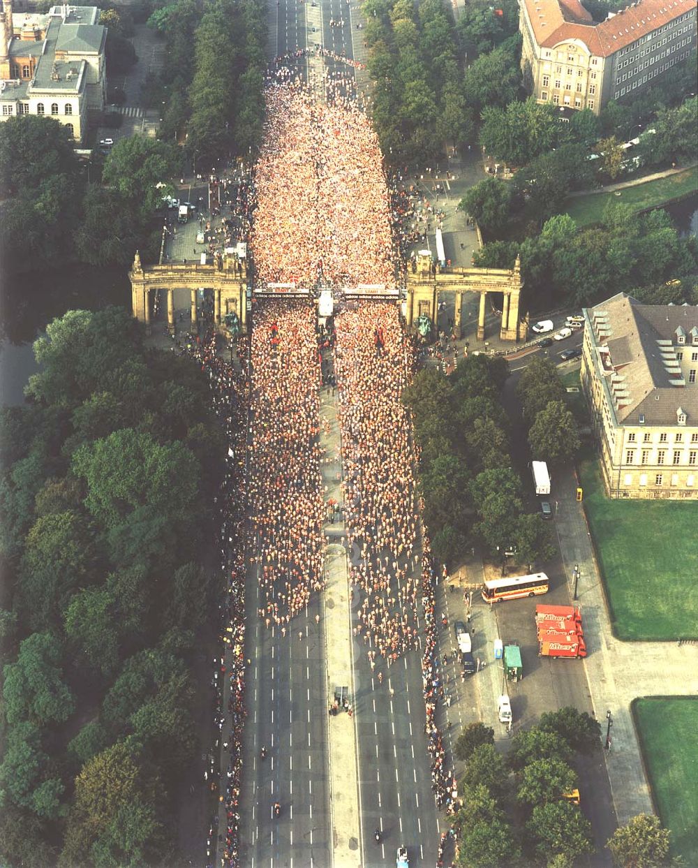
[[[589,649],[584,665],[604,739],[606,712],[613,718],[611,749],[605,759],[616,816],[623,825],[636,814],[654,812],[631,703],[640,696],[698,694],[698,648],[679,647],[675,642],[620,641],[613,636],[583,504],[576,500],[577,484],[572,470],[558,476],[555,524],[568,579],[576,564],[581,574],[577,597]]]

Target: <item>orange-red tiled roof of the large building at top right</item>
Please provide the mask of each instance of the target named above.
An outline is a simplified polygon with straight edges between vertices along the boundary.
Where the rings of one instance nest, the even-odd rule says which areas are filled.
[[[684,12],[695,10],[695,0],[636,0],[597,24],[579,0],[524,3],[538,45],[554,48],[577,39],[597,57],[608,57]]]

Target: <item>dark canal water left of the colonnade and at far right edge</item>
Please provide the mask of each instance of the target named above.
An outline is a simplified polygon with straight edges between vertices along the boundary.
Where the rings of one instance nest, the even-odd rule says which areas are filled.
[[[669,205],[682,235],[698,236],[698,193]],[[108,305],[130,310],[127,269],[71,266],[2,280],[0,294],[0,404],[22,404],[24,386],[36,372],[32,344],[52,319],[71,310]]]

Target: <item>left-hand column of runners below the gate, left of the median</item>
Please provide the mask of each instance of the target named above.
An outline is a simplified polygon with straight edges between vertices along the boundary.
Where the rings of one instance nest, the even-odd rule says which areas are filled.
[[[323,582],[314,319],[307,304],[270,299],[256,304],[251,337],[251,560],[264,595],[258,615],[283,635]]]

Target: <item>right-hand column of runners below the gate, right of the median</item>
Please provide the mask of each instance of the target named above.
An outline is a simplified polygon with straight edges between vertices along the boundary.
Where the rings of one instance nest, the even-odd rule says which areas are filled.
[[[408,343],[395,304],[341,312],[336,334],[347,541],[361,556],[350,568],[356,631],[389,666],[417,640],[414,478],[400,401]]]

